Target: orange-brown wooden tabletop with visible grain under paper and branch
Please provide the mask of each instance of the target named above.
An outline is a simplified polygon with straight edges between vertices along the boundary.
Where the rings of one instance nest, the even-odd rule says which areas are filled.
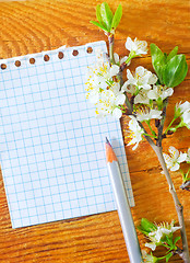
[[[190,58],[189,0],[110,0],[110,7],[122,2],[123,16],[116,35],[116,52],[126,54],[127,36],[157,44],[168,53],[176,45],[179,53]],[[1,1],[0,57],[26,55],[58,48],[67,44],[82,45],[106,39],[103,32],[90,24],[95,20],[95,7],[100,1]],[[150,55],[132,62],[152,70]],[[190,101],[190,75],[175,89],[169,100],[168,118],[179,101]],[[127,118],[122,118],[122,125]],[[124,127],[123,127],[124,128]],[[124,133],[123,133],[124,134]],[[124,138],[127,142],[127,138]],[[179,129],[164,140],[164,151],[173,145],[185,151],[190,146],[190,132]],[[142,217],[156,222],[177,220],[174,203],[158,161],[146,141],[138,150],[126,147],[132,181],[135,207],[132,215],[135,226]],[[173,173],[177,194],[185,206],[185,219],[190,245],[190,193],[179,190],[181,178]],[[0,262],[66,262],[98,263],[129,262],[117,211],[12,229],[2,175],[0,176]],[[145,239],[139,233],[141,247]],[[162,255],[159,250],[156,255]],[[176,256],[171,262],[181,262]]]

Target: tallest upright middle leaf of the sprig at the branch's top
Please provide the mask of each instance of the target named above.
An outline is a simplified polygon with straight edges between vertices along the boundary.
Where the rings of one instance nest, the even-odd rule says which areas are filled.
[[[103,23],[105,24],[107,31],[110,32],[111,22],[112,22],[112,12],[107,2],[103,2],[100,4],[100,16],[102,16]]]

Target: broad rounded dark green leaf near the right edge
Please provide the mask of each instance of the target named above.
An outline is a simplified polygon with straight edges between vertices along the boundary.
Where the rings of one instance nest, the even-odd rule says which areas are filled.
[[[163,71],[163,82],[167,87],[174,88],[180,84],[188,72],[186,56],[180,54],[174,56]]]

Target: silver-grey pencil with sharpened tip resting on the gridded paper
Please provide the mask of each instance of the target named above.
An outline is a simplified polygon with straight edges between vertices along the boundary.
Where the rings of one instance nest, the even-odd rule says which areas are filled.
[[[106,138],[106,160],[130,262],[141,263],[143,262],[141,249],[139,245],[139,240],[134,222],[132,219],[127,192],[123,185],[123,180],[120,172],[118,159],[107,138]]]

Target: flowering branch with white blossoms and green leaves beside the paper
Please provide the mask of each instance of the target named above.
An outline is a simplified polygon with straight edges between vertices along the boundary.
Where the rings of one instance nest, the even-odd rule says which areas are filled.
[[[174,88],[183,81],[188,71],[186,57],[182,54],[177,55],[178,47],[175,47],[167,55],[163,53],[155,44],[151,44],[152,64],[156,75],[152,73],[142,66],[139,66],[135,69],[134,75],[127,69],[128,80],[123,83],[123,70],[127,68],[127,66],[129,66],[132,58],[147,54],[147,43],[139,41],[138,38],[132,41],[130,37],[128,37],[126,42],[126,48],[130,52],[130,54],[128,57],[126,56],[119,59],[119,55],[114,53],[114,42],[115,31],[120,22],[121,15],[121,5],[118,7],[114,15],[109,5],[104,2],[100,5],[98,4],[96,9],[98,22],[91,21],[93,24],[100,27],[108,36],[109,57],[107,57],[105,61],[103,54],[97,54],[97,64],[94,67],[90,67],[88,79],[86,82],[86,99],[90,99],[90,101],[95,104],[95,112],[98,117],[112,115],[116,118],[120,118],[123,111],[126,111],[124,114],[129,115],[131,118],[129,122],[129,134],[131,140],[129,141],[128,146],[134,145],[132,149],[135,150],[139,142],[143,139],[143,137],[145,137],[155,151],[169,185],[169,192],[173,196],[180,225],[182,250],[176,247],[176,242],[179,240],[179,237],[174,240],[174,243],[173,240],[166,237],[165,247],[170,248],[169,253],[159,259],[153,256],[152,254],[145,255],[143,259],[149,260],[149,262],[157,262],[157,260],[162,259],[166,259],[166,261],[168,261],[173,254],[178,253],[181,259],[183,259],[185,263],[189,263],[190,259],[185,228],[183,207],[178,199],[167,169],[168,163],[165,159],[166,155],[163,153],[162,149],[162,140],[163,138],[166,138],[167,135],[183,126],[190,129],[190,103],[186,102],[176,105],[175,118],[166,128],[165,133],[163,133],[168,96],[173,95]],[[128,96],[127,92],[131,94],[131,98]],[[180,117],[181,122],[176,127],[171,127],[177,117]],[[154,132],[154,129],[152,129],[150,124],[151,119],[155,119],[157,134]],[[142,124],[143,122],[147,124],[151,135],[146,133]],[[187,162],[190,163],[190,153],[188,155]],[[177,155],[175,155],[175,157]],[[182,162],[182,158],[185,158],[185,153],[183,156],[179,156],[177,159],[175,159],[175,162],[173,163],[175,169],[176,167],[179,167],[178,162]],[[168,158],[168,160],[170,159]],[[170,168],[169,169],[175,171],[174,167],[173,170]],[[186,175],[183,174],[183,181],[185,176],[186,180],[188,180],[183,183],[188,183],[189,187],[190,180],[188,174],[189,172]],[[171,232],[177,228],[178,227],[174,227],[173,224],[170,225]],[[166,229],[164,229],[163,233],[166,232]]]

